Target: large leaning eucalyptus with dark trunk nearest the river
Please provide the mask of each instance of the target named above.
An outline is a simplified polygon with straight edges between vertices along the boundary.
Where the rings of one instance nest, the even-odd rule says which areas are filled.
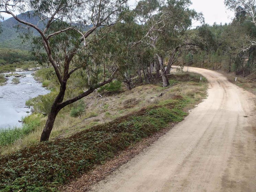
[[[33,53],[42,64],[54,68],[59,83],[57,94],[48,115],[40,141],[46,141],[51,134],[58,112],[65,106],[89,95],[98,87],[112,81],[119,64],[109,54],[99,53],[99,41],[111,31],[126,9],[127,0],[0,0],[0,14],[5,13],[26,27],[25,37],[32,37]],[[14,11],[26,12],[41,17],[37,24],[20,19]],[[39,25],[43,24],[43,27]],[[104,32],[101,31],[104,28]],[[36,31],[39,36],[32,36]],[[28,33],[29,32],[29,33]],[[102,45],[103,46],[103,45]],[[112,54],[111,54],[112,55]],[[99,75],[99,66],[108,58],[106,77]],[[112,65],[113,64],[113,65]],[[77,70],[87,74],[87,88],[73,98],[65,100],[65,92],[70,76]]]

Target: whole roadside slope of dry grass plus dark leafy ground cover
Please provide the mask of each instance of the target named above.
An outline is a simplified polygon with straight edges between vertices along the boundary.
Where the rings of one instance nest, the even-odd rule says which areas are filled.
[[[191,74],[190,81],[185,79],[186,74],[179,74],[172,77],[174,83],[169,88],[148,84],[111,97],[85,98],[87,111],[94,109],[94,114],[70,117],[74,121],[61,129],[55,126],[51,142],[31,142],[29,147],[0,157],[0,191],[58,191],[58,186],[103,164],[118,151],[169,123],[182,121],[187,109],[205,97],[207,88],[205,79],[200,82],[200,76]],[[136,102],[128,102],[132,98]],[[60,114],[56,123],[66,121],[65,115]],[[41,121],[44,120],[45,117]],[[38,126],[23,139],[38,137],[40,134],[36,134],[41,131]]]

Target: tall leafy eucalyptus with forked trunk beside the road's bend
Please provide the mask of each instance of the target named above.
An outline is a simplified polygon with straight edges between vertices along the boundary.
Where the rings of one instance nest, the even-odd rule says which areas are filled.
[[[192,45],[183,34],[191,26],[192,19],[199,20],[201,14],[189,9],[190,5],[190,0],[149,0],[140,1],[135,9],[137,21],[143,24],[145,31],[139,43],[154,49],[164,87],[169,85],[167,75],[171,65],[188,45]],[[168,57],[166,68],[165,57]]]

